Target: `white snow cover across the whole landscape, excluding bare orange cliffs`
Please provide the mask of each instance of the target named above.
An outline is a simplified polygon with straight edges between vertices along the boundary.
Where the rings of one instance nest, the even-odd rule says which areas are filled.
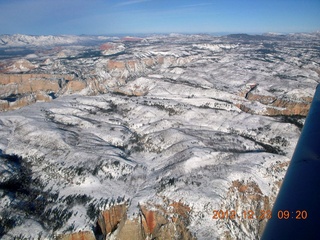
[[[10,44],[22,44],[21,39],[35,40],[34,45],[48,40],[48,45],[79,41],[76,36],[29,37],[14,36]],[[199,239],[218,238],[225,231],[234,238],[257,237],[248,230],[249,223],[215,221],[212,211],[233,208],[236,203],[255,207],[256,203],[245,202],[240,193],[232,192],[235,181],[254,182],[261,196],[272,203],[300,130],[279,117],[265,116],[269,106],[245,99],[243,91],[257,84],[256,94],[298,101],[312,97],[318,75],[308,61],[303,65],[306,59],[290,62],[303,46],[284,52],[285,61],[274,61],[277,54],[262,57],[257,53],[262,47],[259,41],[244,44],[203,36],[203,43],[197,35],[172,37],[176,39],[148,37],[147,46],[126,45],[125,56],[112,56],[115,61],[132,57],[138,62],[134,69],[109,71],[108,56],[48,60],[50,71],[72,70],[86,81],[96,78],[103,91],[86,96],[93,92],[86,89],[0,114],[1,151],[23,157],[21,161],[32,173],[30,187],[50,195],[47,199],[57,194],[53,202],[47,200],[45,213],[51,216],[52,209],[71,213],[53,233],[50,226],[49,230],[41,227],[38,216],[30,220],[14,208],[11,203],[19,199],[0,192],[1,207],[23,219],[4,237],[30,234],[35,238],[42,233],[50,238],[89,230],[98,217],[88,216],[89,205],[104,210],[121,198],[130,203],[128,215],[132,217],[138,204],[161,205],[164,197],[192,208],[189,229]],[[160,44],[153,43],[157,41]],[[164,63],[152,67],[139,63],[139,59],[156,56],[165,57]],[[45,59],[51,58],[43,56],[41,62]],[[284,73],[286,78],[280,78]],[[126,96],[115,91],[130,93],[137,87],[147,89],[146,94]],[[252,113],[243,112],[237,104],[250,107]],[[276,137],[281,141],[275,141]],[[9,171],[6,164],[1,162],[1,172]],[[250,226],[254,231],[259,228],[256,223]],[[35,231],[27,233],[28,228]]]

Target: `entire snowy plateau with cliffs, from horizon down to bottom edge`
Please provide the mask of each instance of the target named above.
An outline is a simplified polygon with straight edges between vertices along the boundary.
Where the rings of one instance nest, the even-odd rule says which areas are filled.
[[[319,43],[1,35],[0,238],[259,239]]]

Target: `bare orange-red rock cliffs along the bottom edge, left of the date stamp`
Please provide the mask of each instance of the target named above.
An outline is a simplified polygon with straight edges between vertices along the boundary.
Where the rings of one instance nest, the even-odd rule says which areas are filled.
[[[188,230],[191,208],[182,202],[166,202],[165,206],[139,206],[138,215],[127,217],[127,204],[110,207],[100,213],[97,221],[100,237],[119,240],[195,239]],[[96,234],[99,237],[99,234]],[[90,231],[59,236],[59,240],[96,239]]]

